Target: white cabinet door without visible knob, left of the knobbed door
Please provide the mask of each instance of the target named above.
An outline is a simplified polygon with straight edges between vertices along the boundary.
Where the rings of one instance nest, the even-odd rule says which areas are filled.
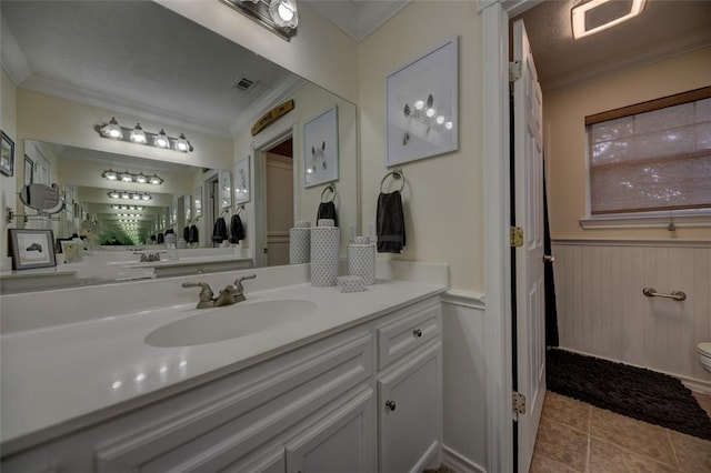
[[[373,397],[364,390],[288,442],[287,473],[374,472]]]

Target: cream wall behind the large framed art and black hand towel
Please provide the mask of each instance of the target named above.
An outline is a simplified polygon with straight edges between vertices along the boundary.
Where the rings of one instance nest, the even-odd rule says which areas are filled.
[[[375,221],[385,168],[385,77],[459,37],[459,151],[402,164],[407,245],[395,259],[445,262],[452,289],[484,289],[481,17],[475,2],[415,1],[360,43],[362,222]]]

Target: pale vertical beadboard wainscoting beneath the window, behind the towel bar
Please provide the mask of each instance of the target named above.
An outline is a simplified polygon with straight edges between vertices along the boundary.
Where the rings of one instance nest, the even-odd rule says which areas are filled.
[[[697,355],[711,341],[711,246],[554,241],[553,254],[561,348],[711,383]]]

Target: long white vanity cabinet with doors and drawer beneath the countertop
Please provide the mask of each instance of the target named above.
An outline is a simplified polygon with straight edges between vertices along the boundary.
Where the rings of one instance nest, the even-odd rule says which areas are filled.
[[[439,296],[429,298],[231,374],[226,366],[216,381],[190,380],[192,389],[4,457],[0,470],[399,473],[435,466],[440,325]]]

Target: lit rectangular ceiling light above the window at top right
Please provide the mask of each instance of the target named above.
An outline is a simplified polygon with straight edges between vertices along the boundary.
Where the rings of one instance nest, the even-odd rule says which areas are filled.
[[[644,10],[647,0],[590,0],[579,3],[571,10],[573,38],[581,39],[604,31]]]

